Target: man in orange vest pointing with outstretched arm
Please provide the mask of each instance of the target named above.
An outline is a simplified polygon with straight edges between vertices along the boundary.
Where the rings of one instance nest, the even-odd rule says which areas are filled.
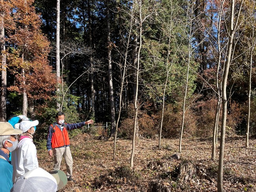
[[[72,124],[64,123],[65,114],[62,112],[58,112],[55,118],[56,122],[51,124],[48,129],[46,147],[49,155],[54,155],[54,170],[60,170],[63,157],[67,167],[67,179],[68,181],[74,181],[72,178],[73,159],[69,148],[70,142],[67,131],[93,124],[93,120]]]

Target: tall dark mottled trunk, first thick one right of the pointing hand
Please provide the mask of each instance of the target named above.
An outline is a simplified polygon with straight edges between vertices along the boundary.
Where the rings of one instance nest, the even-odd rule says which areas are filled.
[[[111,49],[112,44],[110,41],[110,19],[109,19],[109,0],[107,0],[107,44],[108,44],[108,83],[109,83],[109,100],[110,100],[110,118],[111,118],[111,137],[115,137],[115,101],[112,81],[112,61],[111,61]]]

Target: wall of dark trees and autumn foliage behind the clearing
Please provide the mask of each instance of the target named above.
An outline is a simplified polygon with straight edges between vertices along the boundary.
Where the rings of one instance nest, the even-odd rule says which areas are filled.
[[[145,0],[142,9],[127,0],[61,0],[63,92],[57,92],[60,85],[56,81],[56,1],[4,0],[2,13],[6,2],[11,11],[6,12],[10,17],[1,17],[5,23],[6,46],[2,53],[7,55],[6,119],[2,121],[22,114],[26,92],[27,116],[40,121],[37,138],[43,139],[48,125],[54,121],[56,103],[61,103],[64,97],[62,111],[67,122],[92,118],[96,125],[105,126],[106,122],[111,125],[111,116],[117,120],[121,109],[118,136],[131,138],[139,53],[137,135],[158,137],[164,101],[162,137],[179,137],[187,87],[184,137],[212,136],[218,90],[216,72],[221,85],[226,61],[228,4],[223,5],[226,14],[219,17],[221,5],[217,0]],[[256,133],[255,37],[252,35],[255,22],[250,23],[250,18],[255,19],[255,10],[249,2],[245,1],[239,30],[234,35],[227,84],[228,135],[245,135],[249,85],[250,135]],[[254,17],[249,17],[251,9]],[[140,13],[143,22],[139,22]],[[20,39],[15,36],[18,33]],[[109,52],[114,113],[111,113],[109,94]],[[110,129],[106,134],[111,134]]]

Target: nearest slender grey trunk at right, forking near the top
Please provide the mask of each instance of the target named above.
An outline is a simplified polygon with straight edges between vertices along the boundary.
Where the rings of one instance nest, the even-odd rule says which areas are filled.
[[[231,11],[230,11],[230,28],[229,28],[229,39],[228,39],[228,49],[227,58],[224,68],[224,76],[222,82],[222,125],[221,125],[221,139],[220,139],[220,151],[219,151],[219,166],[218,166],[218,178],[217,178],[217,188],[218,192],[223,192],[223,165],[224,165],[224,148],[225,148],[225,133],[226,133],[226,113],[227,113],[227,96],[226,96],[226,85],[228,79],[228,71],[231,61],[232,44],[234,39],[234,33],[237,28],[237,22],[239,20],[239,15],[243,0],[241,0],[239,13],[237,14],[236,25],[234,26],[234,9],[235,0],[231,0]]]

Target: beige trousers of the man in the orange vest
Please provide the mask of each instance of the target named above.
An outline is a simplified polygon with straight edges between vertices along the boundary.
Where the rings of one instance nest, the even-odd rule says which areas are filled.
[[[70,147],[61,147],[61,148],[54,148],[53,150],[54,156],[54,170],[60,170],[61,160],[62,157],[65,160],[66,167],[67,167],[67,176],[72,176],[72,169],[73,169],[73,159],[70,151]]]

